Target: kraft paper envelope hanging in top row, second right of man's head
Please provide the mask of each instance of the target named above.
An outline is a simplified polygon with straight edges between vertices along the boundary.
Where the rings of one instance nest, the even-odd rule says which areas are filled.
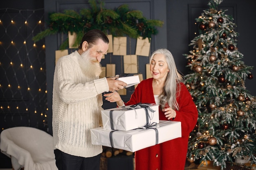
[[[114,37],[113,40],[113,55],[126,55],[126,37]]]

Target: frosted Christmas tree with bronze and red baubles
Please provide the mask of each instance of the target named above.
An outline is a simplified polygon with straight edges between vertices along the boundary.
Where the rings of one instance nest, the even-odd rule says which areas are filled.
[[[218,10],[222,0],[210,0],[209,9],[196,18],[198,36],[184,54],[191,73],[185,83],[198,108],[198,124],[191,132],[187,157],[212,161],[223,170],[242,157],[256,163],[256,102],[245,88],[252,66],[242,61],[233,17]]]

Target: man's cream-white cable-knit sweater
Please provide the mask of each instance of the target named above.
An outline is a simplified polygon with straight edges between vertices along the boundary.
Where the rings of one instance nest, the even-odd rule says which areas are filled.
[[[102,95],[108,91],[106,78],[88,76],[75,51],[61,57],[55,67],[52,127],[54,147],[70,155],[93,157],[102,147],[92,145],[90,129],[100,126]]]

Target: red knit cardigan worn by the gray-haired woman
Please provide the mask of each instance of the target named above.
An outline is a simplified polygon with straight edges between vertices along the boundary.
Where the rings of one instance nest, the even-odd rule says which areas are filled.
[[[152,82],[153,78],[141,81],[125,105],[155,104]],[[195,127],[198,111],[186,86],[181,83],[180,88],[177,96],[180,110],[175,110],[176,117],[172,121],[181,121],[182,137],[136,151],[135,170],[184,170],[189,133]],[[168,120],[160,107],[159,119]]]

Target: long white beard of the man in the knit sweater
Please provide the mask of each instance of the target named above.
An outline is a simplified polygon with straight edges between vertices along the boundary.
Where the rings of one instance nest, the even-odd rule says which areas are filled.
[[[96,58],[90,57],[90,49],[81,54],[79,65],[86,76],[95,77],[101,75],[101,64]]]

